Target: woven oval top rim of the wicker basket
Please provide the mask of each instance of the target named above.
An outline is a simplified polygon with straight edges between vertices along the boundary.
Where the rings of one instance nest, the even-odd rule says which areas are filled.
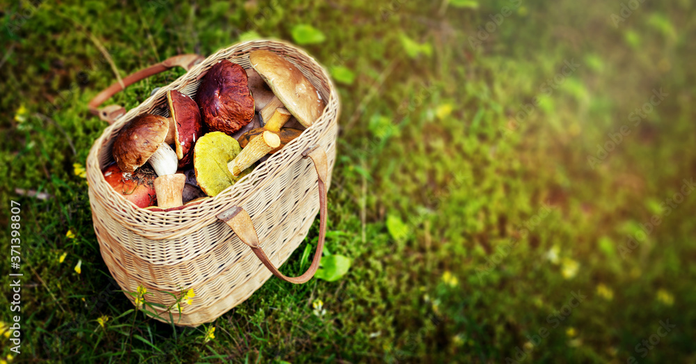
[[[327,132],[329,129],[331,129],[331,124],[333,122],[338,122],[338,115],[340,115],[340,100],[338,97],[338,92],[335,88],[335,84],[333,83],[333,80],[329,76],[329,73],[326,71],[326,68],[324,68],[320,63],[318,63],[315,58],[310,56],[304,49],[297,47],[296,45],[292,45],[289,42],[285,42],[283,40],[276,40],[276,39],[258,39],[258,40],[248,40],[246,42],[238,42],[233,45],[230,45],[230,47],[226,47],[223,49],[219,49],[219,51],[215,52],[214,54],[211,54],[210,56],[207,56],[204,61],[199,63],[198,65],[194,66],[183,74],[181,77],[177,78],[175,81],[171,82],[170,84],[167,84],[165,86],[161,86],[159,90],[157,90],[156,93],[153,95],[150,95],[146,100],[141,102],[138,106],[134,107],[133,109],[129,110],[127,113],[125,113],[124,116],[121,116],[116,120],[116,122],[113,123],[113,125],[109,125],[102,131],[102,134],[95,140],[95,142],[92,145],[92,148],[90,148],[89,155],[87,157],[87,178],[88,178],[88,189],[90,191],[90,203],[103,203],[104,198],[97,198],[96,196],[91,196],[92,193],[97,193],[96,187],[104,187],[104,191],[107,194],[107,196],[118,196],[116,199],[120,201],[120,206],[116,205],[113,207],[106,207],[104,210],[111,215],[112,218],[119,220],[121,222],[121,226],[123,228],[127,228],[128,230],[131,230],[132,232],[135,232],[138,235],[141,235],[147,239],[150,240],[166,240],[166,239],[175,239],[176,237],[180,237],[184,233],[190,233],[188,231],[188,228],[191,227],[191,225],[194,225],[193,223],[190,223],[189,225],[180,225],[180,232],[174,232],[171,234],[166,234],[163,232],[146,232],[148,231],[147,229],[142,228],[142,224],[139,224],[138,227],[134,227],[129,225],[126,221],[123,221],[125,219],[125,216],[133,216],[135,214],[141,215],[146,221],[149,220],[151,217],[157,218],[157,217],[179,217],[180,219],[186,219],[186,216],[188,214],[198,212],[199,210],[203,210],[205,208],[210,208],[213,207],[216,204],[219,204],[221,200],[224,198],[230,198],[232,197],[232,202],[233,203],[224,203],[221,204],[220,207],[216,209],[212,209],[211,211],[205,213],[205,215],[201,216],[200,219],[208,219],[209,216],[214,216],[221,210],[229,207],[230,205],[237,204],[237,205],[242,205],[248,198],[253,196],[253,194],[260,190],[263,189],[267,184],[272,183],[275,179],[276,176],[280,173],[283,173],[285,171],[285,168],[288,168],[287,165],[283,166],[280,164],[274,165],[273,162],[277,161],[285,153],[290,152],[286,148],[283,148],[283,150],[280,150],[280,152],[275,153],[274,155],[271,155],[267,161],[262,162],[259,166],[254,168],[254,170],[249,173],[248,175],[242,177],[239,181],[237,181],[235,184],[232,186],[228,187],[227,189],[223,190],[221,193],[219,193],[217,196],[214,196],[212,198],[206,198],[200,203],[195,203],[193,205],[184,205],[182,209],[177,209],[174,211],[161,211],[161,210],[152,210],[152,209],[145,209],[145,208],[140,208],[137,207],[134,203],[126,200],[123,198],[120,193],[117,193],[111,187],[106,184],[106,180],[104,179],[104,175],[102,174],[102,170],[100,168],[100,161],[99,156],[100,156],[100,151],[103,148],[106,148],[106,143],[109,143],[111,139],[116,137],[116,129],[119,129],[123,125],[127,124],[130,120],[132,120],[135,116],[139,115],[142,112],[141,111],[141,106],[143,105],[150,105],[150,107],[155,107],[158,104],[158,100],[160,100],[164,95],[166,95],[167,90],[171,89],[177,89],[177,88],[183,88],[185,87],[190,81],[192,75],[195,75],[196,77],[200,77],[200,74],[203,72],[207,72],[206,67],[209,68],[209,63],[212,61],[219,61],[221,59],[228,59],[232,58],[230,56],[221,56],[221,54],[224,54],[226,52],[231,52],[234,51],[235,49],[243,49],[244,47],[250,47],[251,49],[244,50],[242,52],[239,52],[239,54],[246,55],[251,50],[254,48],[262,48],[266,49],[265,47],[268,46],[271,47],[287,47],[292,49],[294,52],[299,54],[304,60],[313,63],[313,67],[317,70],[319,70],[319,74],[317,74],[317,78],[320,77],[319,81],[324,82],[326,85],[328,85],[328,95],[329,97],[326,100],[326,107],[322,111],[322,114],[319,116],[317,119],[317,122],[315,122],[313,125],[308,127],[306,130],[303,131],[303,133],[288,143],[288,145],[292,146],[294,144],[300,144],[304,149],[307,148],[309,145],[312,145],[319,139],[321,139],[321,136]],[[306,68],[305,65],[300,65],[301,68]],[[176,85],[176,86],[174,86]],[[324,87],[321,87],[321,85],[314,85],[318,89],[324,89]],[[333,109],[337,109],[336,116],[334,118],[325,118],[326,114]],[[321,128],[321,131],[317,134],[317,137],[314,139],[310,140],[310,136],[308,136],[308,132],[310,130],[315,130]],[[296,151],[294,152],[296,153]],[[296,153],[299,155],[299,153]],[[297,157],[294,157],[294,159],[297,159]],[[94,168],[97,166],[97,168]],[[265,175],[261,176],[262,173],[265,173]],[[251,184],[251,189],[248,189],[248,191],[242,191],[244,187],[248,187],[248,185]],[[108,188],[106,188],[108,187]],[[121,210],[121,211],[118,211]],[[114,214],[116,216],[114,216]],[[209,223],[214,223],[214,221],[208,221],[208,223],[205,223],[204,225],[201,225],[199,228],[203,228]],[[156,235],[156,236],[153,236]]]

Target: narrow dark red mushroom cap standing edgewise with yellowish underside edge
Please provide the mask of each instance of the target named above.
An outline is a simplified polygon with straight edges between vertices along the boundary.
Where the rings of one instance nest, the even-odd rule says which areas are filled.
[[[177,90],[167,91],[167,103],[175,127],[174,145],[179,168],[184,168],[193,162],[193,145],[203,135],[200,112],[191,97]]]

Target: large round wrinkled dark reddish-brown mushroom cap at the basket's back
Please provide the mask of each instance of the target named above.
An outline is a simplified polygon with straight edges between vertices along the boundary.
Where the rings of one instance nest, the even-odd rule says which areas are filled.
[[[231,135],[254,117],[254,99],[248,88],[246,71],[226,59],[205,74],[196,98],[209,132]]]

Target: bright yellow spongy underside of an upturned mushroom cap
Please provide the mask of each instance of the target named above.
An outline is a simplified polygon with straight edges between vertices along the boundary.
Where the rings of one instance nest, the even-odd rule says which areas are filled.
[[[242,152],[239,143],[223,132],[208,133],[198,139],[193,147],[193,169],[196,171],[198,187],[205,194],[217,196],[251,172],[251,169],[246,169],[242,173],[232,175],[228,171],[228,163],[235,159],[239,152]]]

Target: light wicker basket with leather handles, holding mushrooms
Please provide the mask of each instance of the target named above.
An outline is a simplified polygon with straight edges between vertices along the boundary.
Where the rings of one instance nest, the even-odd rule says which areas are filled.
[[[102,168],[113,161],[113,140],[127,122],[141,113],[168,116],[167,90],[180,90],[195,99],[199,81],[212,65],[229,59],[249,68],[248,54],[256,49],[282,54],[319,90],[327,106],[311,127],[215,198],[184,209],[141,209],[106,184]],[[243,42],[202,59],[196,55],[169,58],[112,85],[90,102],[93,113],[113,121],[87,158],[92,219],[102,258],[122,290],[136,292],[142,285],[150,302],[172,306],[175,299],[166,292],[179,296],[193,288],[193,304],[182,304],[180,315],[172,312],[173,322],[184,326],[212,322],[251,296],[271,274],[293,283],[313,276],[324,245],[326,189],[335,161],[340,113],[338,93],[326,71],[306,52],[285,42]],[[189,71],[135,109],[125,112],[114,105],[97,109],[123,87],[174,65]],[[298,278],[282,276],[275,267],[306,237],[320,205],[319,244],[310,269]],[[134,301],[132,295],[126,296]],[[170,320],[164,309],[156,313],[161,314],[157,319]]]

